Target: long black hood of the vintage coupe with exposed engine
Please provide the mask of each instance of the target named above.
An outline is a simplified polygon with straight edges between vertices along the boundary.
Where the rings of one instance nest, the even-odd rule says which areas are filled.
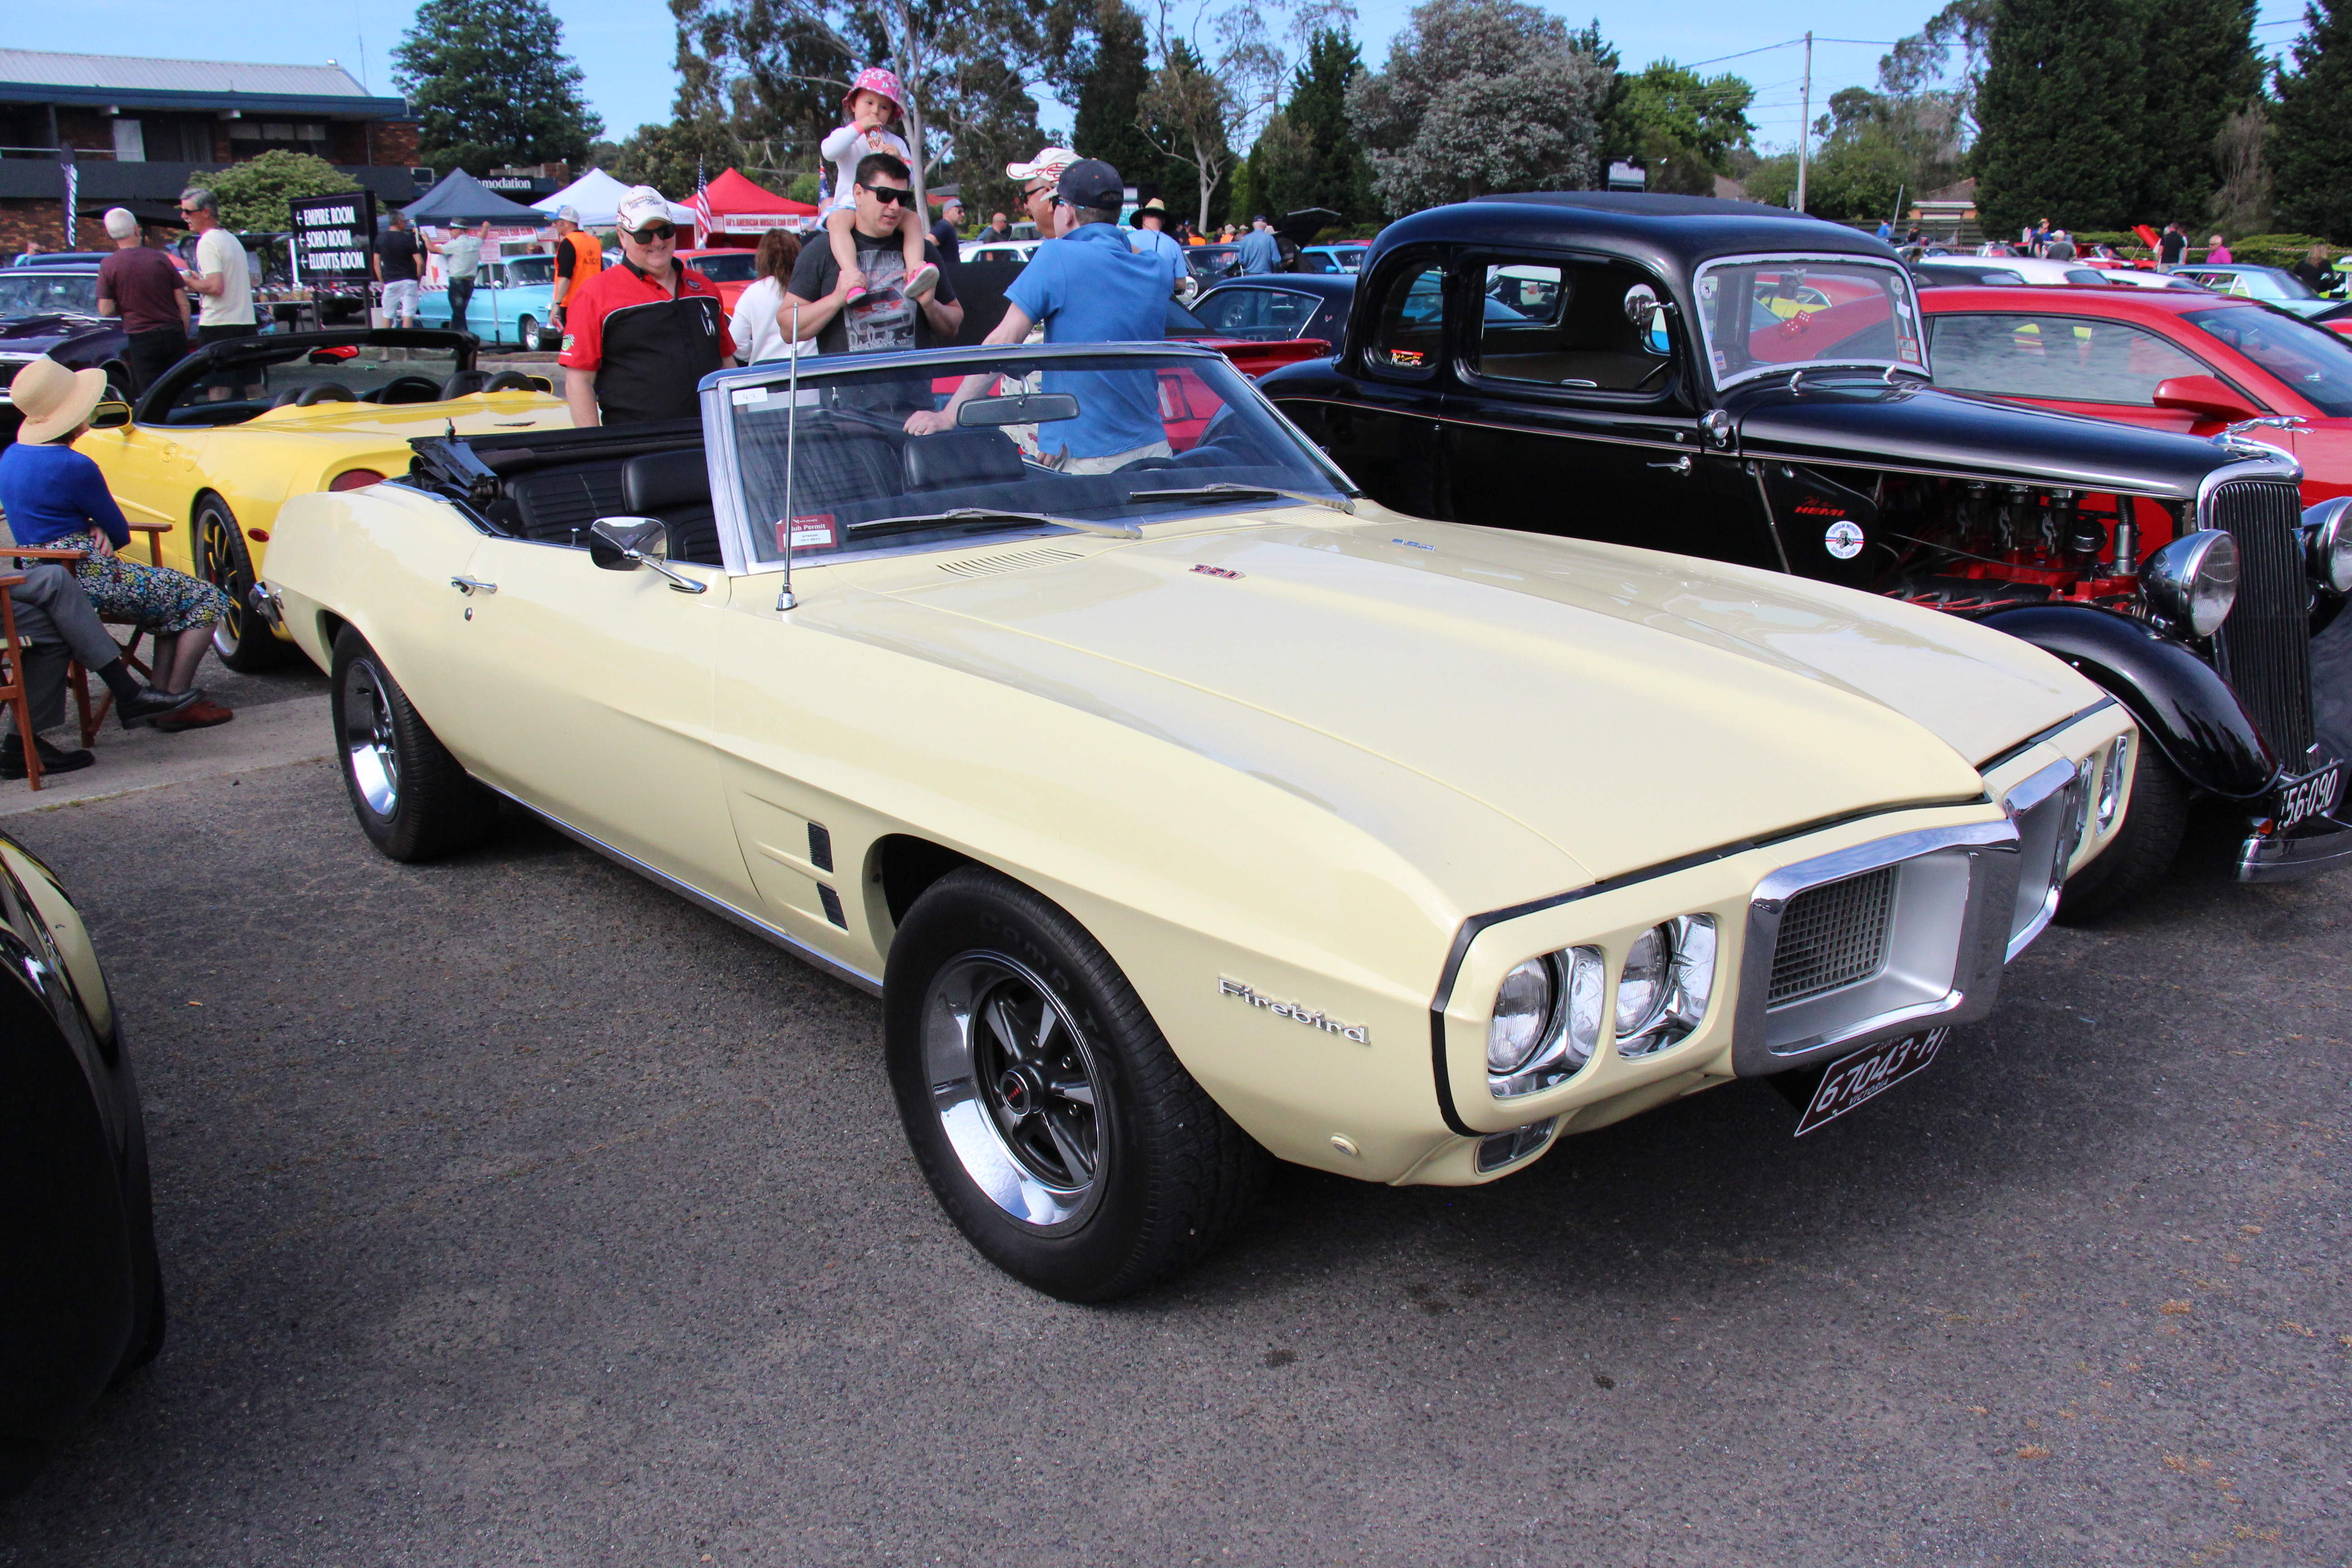
[[[2190,435],[1835,371],[1804,376],[1795,393],[1780,381],[1738,388],[1724,409],[1738,421],[1743,456],[1832,468],[1929,468],[2192,498],[2199,480],[2239,461]]]

